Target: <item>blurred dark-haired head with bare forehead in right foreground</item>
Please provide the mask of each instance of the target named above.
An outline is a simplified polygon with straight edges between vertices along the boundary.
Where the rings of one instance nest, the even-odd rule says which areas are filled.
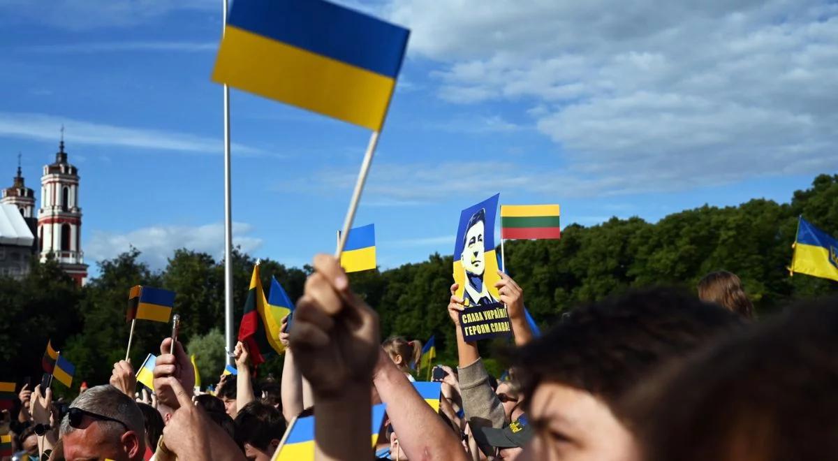
[[[668,360],[739,329],[692,296],[654,289],[576,308],[520,350],[516,377],[535,437],[520,459],[628,459],[624,394]]]

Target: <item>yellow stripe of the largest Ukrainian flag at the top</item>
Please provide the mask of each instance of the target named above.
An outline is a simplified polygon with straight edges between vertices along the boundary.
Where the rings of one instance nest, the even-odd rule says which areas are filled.
[[[380,131],[396,80],[228,25],[212,80]]]

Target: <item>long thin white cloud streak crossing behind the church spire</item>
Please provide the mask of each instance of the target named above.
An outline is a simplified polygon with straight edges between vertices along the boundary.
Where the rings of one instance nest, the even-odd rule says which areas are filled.
[[[72,144],[212,154],[221,153],[224,149],[220,139],[183,132],[118,127],[47,114],[0,112],[0,137],[23,137],[55,142],[59,137],[59,127],[62,125],[66,128],[65,140]],[[231,145],[230,150],[234,155],[265,154],[261,149],[236,143]]]

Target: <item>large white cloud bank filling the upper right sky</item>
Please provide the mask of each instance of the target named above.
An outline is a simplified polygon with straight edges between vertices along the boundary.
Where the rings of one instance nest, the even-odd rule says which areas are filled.
[[[442,100],[530,106],[573,194],[838,168],[838,4],[391,0],[385,12],[437,61]]]

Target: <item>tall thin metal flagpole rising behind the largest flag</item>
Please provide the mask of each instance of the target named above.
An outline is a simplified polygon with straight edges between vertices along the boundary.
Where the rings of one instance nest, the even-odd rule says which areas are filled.
[[[221,0],[222,28],[227,27],[228,0]],[[233,365],[230,355],[235,346],[233,336],[233,214],[230,197],[230,88],[224,85],[224,337],[227,349],[227,365]]]

